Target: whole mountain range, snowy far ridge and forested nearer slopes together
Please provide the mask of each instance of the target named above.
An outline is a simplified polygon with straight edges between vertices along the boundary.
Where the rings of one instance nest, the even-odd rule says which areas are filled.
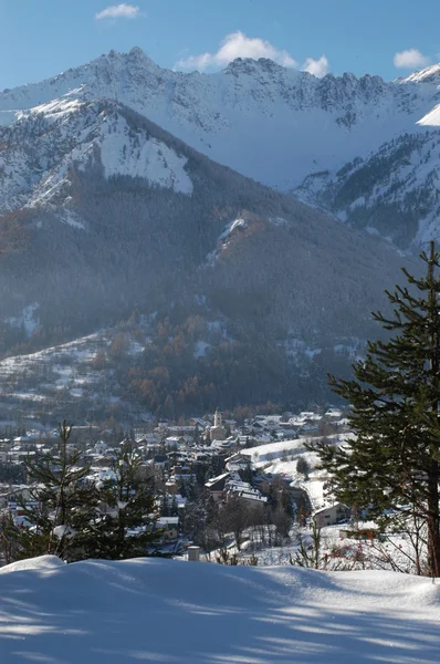
[[[264,362],[353,355],[438,235],[438,70],[182,74],[134,49],[3,91],[3,350],[180,308]]]

